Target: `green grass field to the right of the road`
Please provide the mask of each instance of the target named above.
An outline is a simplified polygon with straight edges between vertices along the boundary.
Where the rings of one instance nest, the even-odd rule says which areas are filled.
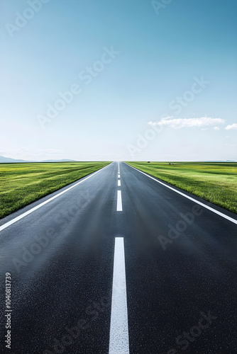
[[[237,214],[237,163],[128,162],[178,188]]]

